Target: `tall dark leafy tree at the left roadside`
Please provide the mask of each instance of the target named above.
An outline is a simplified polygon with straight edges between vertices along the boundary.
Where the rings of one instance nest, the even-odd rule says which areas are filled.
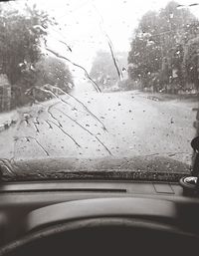
[[[0,73],[6,74],[13,93],[25,94],[34,86],[35,64],[40,60],[42,40],[52,20],[36,5],[27,4],[21,10],[6,3],[0,5]],[[18,93],[16,94],[16,92]]]

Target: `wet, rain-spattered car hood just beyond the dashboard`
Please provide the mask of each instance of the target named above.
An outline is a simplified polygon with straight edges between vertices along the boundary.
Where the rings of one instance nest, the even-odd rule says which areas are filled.
[[[163,156],[131,158],[44,158],[0,160],[4,181],[53,179],[129,179],[178,181],[190,174],[187,163]]]

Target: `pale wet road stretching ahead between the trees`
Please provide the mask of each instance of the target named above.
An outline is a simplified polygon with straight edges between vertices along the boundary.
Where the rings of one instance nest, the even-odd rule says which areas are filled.
[[[197,103],[158,101],[138,91],[74,93],[18,110],[0,132],[7,159],[161,155],[190,163]]]

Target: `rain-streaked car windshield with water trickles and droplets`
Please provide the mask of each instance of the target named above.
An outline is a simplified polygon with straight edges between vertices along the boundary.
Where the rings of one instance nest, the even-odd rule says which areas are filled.
[[[7,178],[189,173],[198,90],[199,2],[0,3]]]

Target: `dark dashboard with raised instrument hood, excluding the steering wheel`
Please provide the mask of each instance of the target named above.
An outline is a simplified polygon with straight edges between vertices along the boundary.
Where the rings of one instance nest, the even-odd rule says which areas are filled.
[[[199,236],[199,198],[184,196],[178,183],[76,180],[0,186],[1,247],[66,221],[129,216],[136,223]]]

